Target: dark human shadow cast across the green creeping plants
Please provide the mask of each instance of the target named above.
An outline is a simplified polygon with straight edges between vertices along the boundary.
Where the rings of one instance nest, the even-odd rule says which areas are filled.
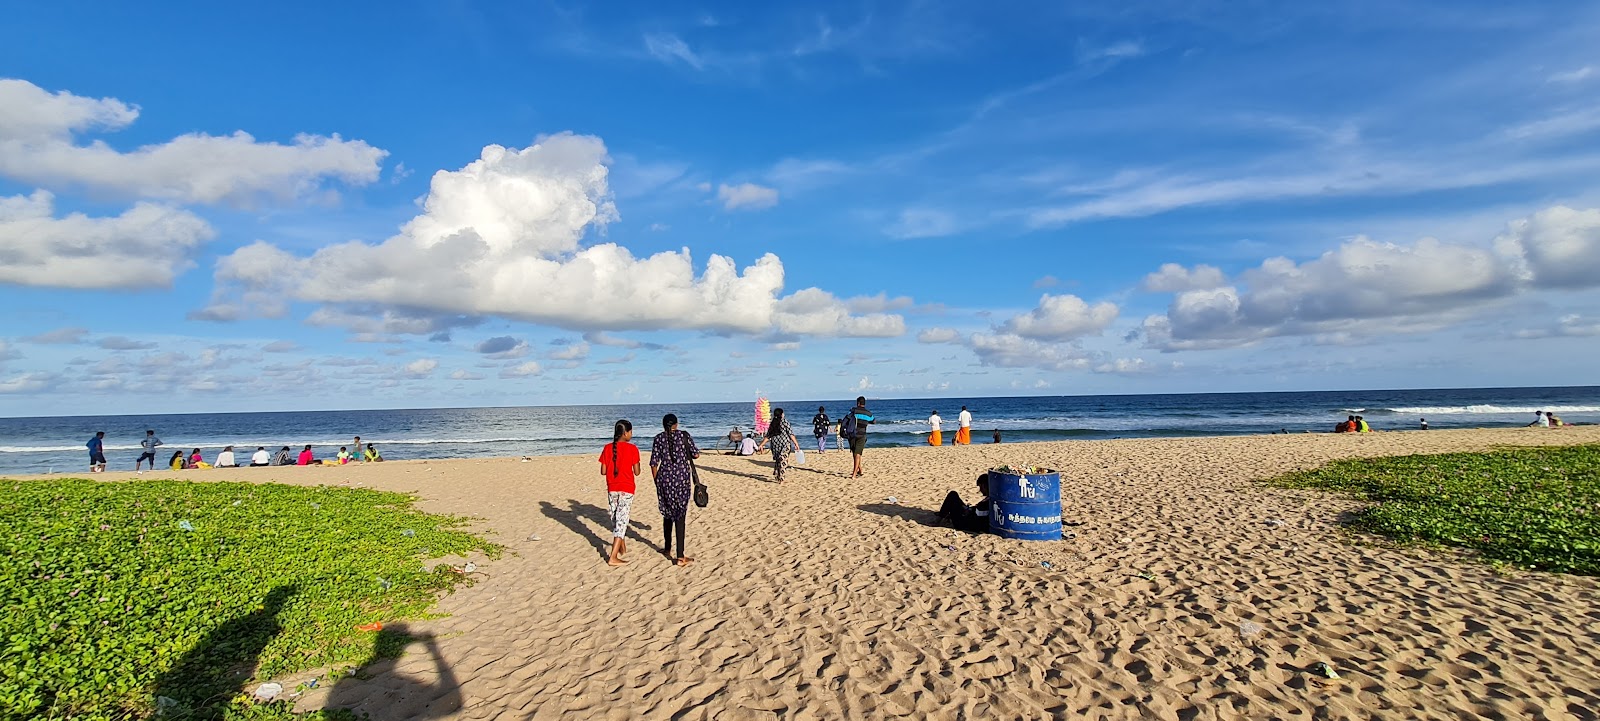
[[[155,697],[178,702],[184,719],[219,719],[256,675],[261,651],[283,631],[278,612],[296,587],[272,588],[261,607],[206,633],[155,681]]]

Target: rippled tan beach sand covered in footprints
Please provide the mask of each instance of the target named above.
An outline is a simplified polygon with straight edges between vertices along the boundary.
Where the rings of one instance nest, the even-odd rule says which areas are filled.
[[[845,478],[848,452],[811,452],[782,486],[768,456],[707,452],[710,507],[690,510],[686,569],[658,552],[648,470],[632,563],[605,564],[605,489],[587,456],[162,476],[414,491],[507,545],[440,601],[446,617],[410,623],[437,638],[432,651],[315,689],[302,710],[1565,719],[1600,713],[1597,579],[1355,544],[1338,524],[1355,504],[1251,481],[1355,456],[1570,443],[1600,443],[1600,427],[869,446],[866,478]],[[946,491],[971,499],[973,478],[1000,464],[1059,468],[1077,537],[930,524]],[[1245,638],[1242,622],[1262,630]],[[1317,662],[1341,678],[1309,673]]]

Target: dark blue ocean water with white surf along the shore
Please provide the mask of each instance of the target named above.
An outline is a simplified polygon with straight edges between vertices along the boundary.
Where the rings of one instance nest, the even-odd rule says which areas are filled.
[[[222,446],[248,459],[256,446],[296,452],[312,444],[330,457],[360,435],[386,459],[459,459],[598,452],[611,424],[634,422],[635,441],[648,448],[661,416],[675,412],[701,448],[739,425],[750,428],[754,403],[680,403],[630,406],[448,408],[414,411],[200,412],[173,416],[62,416],[0,419],[0,473],[82,473],[85,441],[106,432],[110,468],[133,468],[139,440],[154,428],[166,446],[186,454],[200,448],[206,460]],[[789,412],[795,435],[811,443],[811,416],[826,406],[837,419],[853,400],[773,400]],[[1600,422],[1600,387],[1338,390],[1293,393],[1078,395],[1030,398],[874,400],[870,446],[925,443],[928,414],[939,411],[946,440],[954,438],[962,406],[973,412],[973,443],[1162,438],[1197,435],[1331,432],[1347,414],[1362,414],[1374,430],[1514,427],[1552,411],[1566,422]]]

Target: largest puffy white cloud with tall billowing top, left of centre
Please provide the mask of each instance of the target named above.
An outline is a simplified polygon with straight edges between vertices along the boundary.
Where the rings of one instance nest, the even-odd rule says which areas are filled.
[[[282,315],[288,301],[323,304],[320,325],[358,333],[437,333],[498,315],[579,331],[701,329],[883,336],[899,317],[854,317],[819,289],[779,297],[784,269],[766,254],[742,272],[690,251],[637,259],[582,248],[618,219],[597,137],[558,134],[528,149],[488,145],[432,177],[424,213],[378,245],[350,241],[294,256],[253,243],[218,261],[218,289],[198,317]],[[384,323],[374,325],[374,309]],[[365,320],[363,320],[365,318]]]

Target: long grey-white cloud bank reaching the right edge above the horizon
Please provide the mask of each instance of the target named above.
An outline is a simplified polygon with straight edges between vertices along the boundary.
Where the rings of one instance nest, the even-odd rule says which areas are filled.
[[[1197,275],[1210,288],[1165,285],[1178,293],[1165,315],[1146,318],[1147,345],[1205,350],[1277,336],[1362,342],[1443,328],[1522,293],[1600,286],[1600,209],[1554,206],[1512,221],[1493,249],[1357,237],[1312,261],[1267,259],[1219,286],[1203,267],[1163,267],[1152,278]]]

